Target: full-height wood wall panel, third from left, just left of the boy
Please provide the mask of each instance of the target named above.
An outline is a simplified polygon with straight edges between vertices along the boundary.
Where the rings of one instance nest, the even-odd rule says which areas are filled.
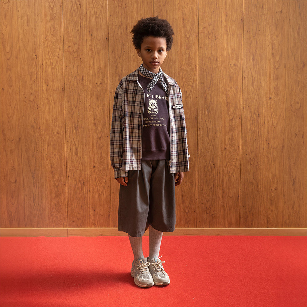
[[[68,226],[110,226],[107,1],[65,1]]]

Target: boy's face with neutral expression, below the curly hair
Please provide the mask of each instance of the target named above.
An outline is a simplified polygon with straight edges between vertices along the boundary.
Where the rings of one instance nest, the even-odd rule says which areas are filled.
[[[156,74],[167,54],[166,40],[164,37],[146,36],[137,53],[143,60],[144,68]]]

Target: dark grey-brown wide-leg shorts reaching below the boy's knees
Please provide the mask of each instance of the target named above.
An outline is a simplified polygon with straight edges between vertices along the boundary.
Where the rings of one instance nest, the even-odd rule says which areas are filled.
[[[141,237],[148,225],[172,232],[175,223],[175,176],[168,162],[142,161],[140,171],[128,172],[128,185],[120,185],[118,230]]]

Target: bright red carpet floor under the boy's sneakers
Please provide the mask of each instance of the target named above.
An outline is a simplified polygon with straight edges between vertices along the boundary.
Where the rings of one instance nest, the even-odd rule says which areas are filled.
[[[0,305],[307,305],[306,237],[164,236],[161,254],[170,285],[143,289],[127,237],[2,237]]]

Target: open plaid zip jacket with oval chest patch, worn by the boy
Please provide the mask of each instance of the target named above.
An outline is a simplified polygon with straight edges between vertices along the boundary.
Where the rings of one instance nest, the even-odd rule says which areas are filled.
[[[181,90],[177,82],[163,72],[167,80],[170,122],[171,173],[189,171],[185,115]],[[128,177],[128,170],[141,170],[142,125],[145,94],[138,83],[138,69],[124,77],[115,91],[111,133],[110,158],[114,177]]]

